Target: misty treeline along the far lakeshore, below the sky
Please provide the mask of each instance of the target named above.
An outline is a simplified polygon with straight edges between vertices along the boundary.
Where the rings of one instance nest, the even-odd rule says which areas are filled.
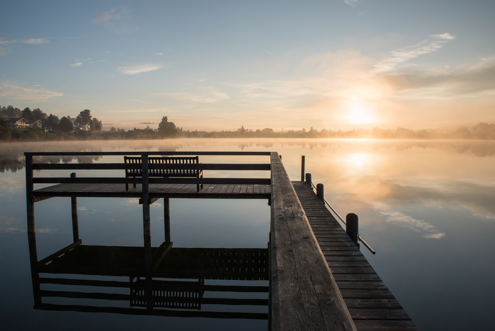
[[[175,126],[173,122],[168,122],[164,116],[158,124],[158,130],[149,128],[125,131],[120,128],[111,127],[110,132],[101,132],[102,124],[97,118],[91,116],[91,112],[85,109],[79,113],[76,120],[89,122],[91,130],[86,132],[73,131],[70,116],[58,119],[52,114],[47,115],[39,108],[24,110],[12,106],[0,107],[0,114],[3,117],[24,117],[27,120],[41,120],[44,125],[52,127],[50,133],[45,133],[40,129],[12,130],[10,125],[0,119],[0,140],[1,141],[44,141],[44,140],[113,140],[113,139],[163,139],[163,138],[374,138],[374,139],[480,139],[495,140],[495,125],[488,123],[478,123],[471,130],[466,127],[458,127],[455,131],[442,133],[436,131],[413,131],[397,127],[390,129],[357,129],[351,131],[331,131],[316,130],[310,128],[308,131],[282,131],[275,132],[273,129],[265,128],[255,131],[245,129],[244,126],[236,131],[183,131]],[[144,122],[143,122],[144,123]],[[73,132],[73,133],[69,133]]]

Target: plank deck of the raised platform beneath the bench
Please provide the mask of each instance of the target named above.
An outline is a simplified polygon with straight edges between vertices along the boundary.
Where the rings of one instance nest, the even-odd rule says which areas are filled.
[[[270,185],[204,184],[197,192],[196,184],[149,184],[150,198],[270,199]],[[141,198],[141,184],[136,188],[125,184],[57,184],[34,190],[35,197],[110,197]]]

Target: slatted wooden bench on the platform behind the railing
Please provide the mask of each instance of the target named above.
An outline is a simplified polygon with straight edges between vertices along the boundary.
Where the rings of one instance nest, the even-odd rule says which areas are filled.
[[[138,163],[141,164],[140,156],[124,156],[124,163]],[[148,157],[149,164],[199,164],[199,156],[191,157]],[[149,169],[149,177],[196,177],[203,178],[203,171],[201,169]],[[142,177],[141,169],[126,169],[125,177]],[[134,184],[136,188],[136,184]],[[203,188],[203,185],[197,185],[199,188]],[[126,191],[129,191],[129,184],[125,185]]]

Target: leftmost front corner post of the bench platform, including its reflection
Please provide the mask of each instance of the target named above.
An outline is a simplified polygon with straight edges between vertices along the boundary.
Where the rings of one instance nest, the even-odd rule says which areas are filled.
[[[35,306],[41,305],[40,274],[38,273],[38,252],[36,249],[36,230],[34,224],[34,181],[33,156],[26,155],[26,212],[28,226],[29,262]]]

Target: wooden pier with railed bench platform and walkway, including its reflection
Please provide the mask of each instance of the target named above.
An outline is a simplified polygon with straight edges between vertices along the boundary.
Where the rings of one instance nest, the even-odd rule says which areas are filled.
[[[35,309],[182,317],[266,318],[268,329],[272,331],[417,330],[344,229],[321,201],[315,200],[316,195],[311,187],[304,182],[291,182],[277,152],[27,152],[25,155],[28,239]],[[71,155],[133,156],[134,161],[33,163],[33,156]],[[185,155],[188,157],[181,157]],[[267,156],[269,163],[199,163],[202,155]],[[111,170],[112,175],[116,176],[77,177],[72,173],[70,177],[34,177],[34,170]],[[268,170],[270,178],[208,178],[205,172],[207,170]],[[132,177],[124,177],[124,173],[125,176],[132,174]],[[53,185],[35,190],[35,184]],[[73,243],[39,261],[34,206],[35,202],[53,197],[72,198]],[[140,198],[143,207],[143,247],[81,245],[77,197]],[[271,206],[268,249],[173,248],[170,198],[267,199]],[[157,199],[164,199],[165,238],[160,247],[153,248],[150,244],[149,206]],[[116,256],[120,258],[115,259]],[[226,256],[230,258],[226,259]],[[114,260],[114,263],[105,264],[107,260]],[[40,272],[126,275],[130,282],[116,284],[100,281],[96,284],[91,280],[57,280],[58,278],[41,278]],[[153,279],[156,277],[198,278],[198,282],[164,282]],[[240,286],[236,290],[231,286],[231,290],[238,292],[268,291],[268,301],[217,301],[218,304],[268,305],[268,314],[183,311],[182,309],[200,309],[201,303],[211,301],[202,298],[201,293],[205,288],[227,290],[226,287],[204,287],[205,278],[268,278],[268,288]],[[43,303],[42,298],[45,296],[89,298],[84,293],[53,293],[41,290],[40,287],[44,283],[64,282],[129,287],[130,295],[92,293],[89,296],[129,300],[131,307],[146,309]],[[172,292],[182,293],[179,295],[182,297],[170,298]]]

